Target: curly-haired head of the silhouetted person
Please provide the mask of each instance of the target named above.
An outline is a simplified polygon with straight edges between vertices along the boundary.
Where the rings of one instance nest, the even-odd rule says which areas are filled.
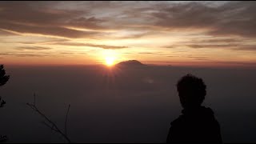
[[[206,97],[206,85],[202,78],[186,74],[177,83],[178,96],[184,108],[201,106]]]

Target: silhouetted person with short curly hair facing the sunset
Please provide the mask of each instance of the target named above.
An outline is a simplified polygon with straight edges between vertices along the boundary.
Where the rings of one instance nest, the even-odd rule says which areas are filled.
[[[220,126],[210,108],[201,106],[206,96],[202,78],[186,74],[177,84],[182,115],[170,123],[166,142],[222,143]]]

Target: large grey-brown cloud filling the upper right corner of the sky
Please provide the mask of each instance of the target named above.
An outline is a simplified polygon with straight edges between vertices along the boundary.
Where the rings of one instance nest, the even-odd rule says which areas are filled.
[[[206,29],[210,35],[256,37],[255,2],[226,2],[206,6],[202,2],[162,6],[151,13],[158,20],[155,26],[168,29]]]

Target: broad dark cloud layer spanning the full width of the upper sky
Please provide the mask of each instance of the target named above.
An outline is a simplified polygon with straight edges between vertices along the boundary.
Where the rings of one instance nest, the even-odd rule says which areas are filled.
[[[124,37],[141,38],[158,29],[256,37],[255,2],[0,2],[0,18],[2,30],[64,38],[147,30]]]

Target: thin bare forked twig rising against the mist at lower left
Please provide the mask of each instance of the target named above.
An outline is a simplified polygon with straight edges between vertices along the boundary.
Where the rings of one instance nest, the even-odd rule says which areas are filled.
[[[34,97],[35,97],[35,94],[34,94]],[[35,101],[34,101],[34,103],[35,103]],[[46,117],[45,114],[42,114],[42,112],[41,112],[40,110],[38,110],[38,107],[37,107],[37,106],[35,106],[34,104],[30,104],[30,103],[26,103],[26,105],[27,105],[27,106],[30,106],[30,108],[31,108],[32,110],[36,111],[36,112],[37,112],[38,114],[40,114],[43,118],[45,118],[45,119],[46,119],[46,122],[50,123],[50,125],[51,125],[51,126],[50,126],[48,123],[43,122],[46,126],[48,126],[51,130],[54,130],[54,131],[58,132],[59,134],[62,134],[62,137],[64,137],[64,138],[66,139],[66,141],[70,143],[70,138],[68,138],[67,135],[66,135],[66,127],[65,127],[65,134],[64,134],[64,133],[62,133],[62,130],[59,130],[58,126],[57,126],[54,122],[52,122],[49,118]],[[70,105],[69,105],[67,114],[68,114],[69,110],[70,110]],[[67,114],[66,114],[66,118],[67,118]],[[65,122],[65,124],[66,124],[66,122]]]

